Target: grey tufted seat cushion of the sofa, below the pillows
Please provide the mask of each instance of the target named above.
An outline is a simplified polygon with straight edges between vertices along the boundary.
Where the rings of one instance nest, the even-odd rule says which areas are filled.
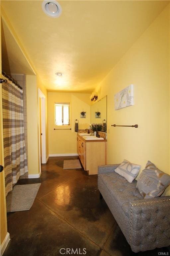
[[[102,179],[110,194],[122,207],[126,216],[129,217],[129,201],[143,199],[136,188],[136,180],[129,183],[124,177],[115,172],[101,173],[98,176]]]

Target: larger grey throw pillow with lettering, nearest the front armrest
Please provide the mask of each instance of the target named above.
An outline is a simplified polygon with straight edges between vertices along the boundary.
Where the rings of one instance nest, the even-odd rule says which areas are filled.
[[[138,178],[136,188],[144,198],[153,198],[161,196],[169,185],[170,175],[160,171],[148,161]]]

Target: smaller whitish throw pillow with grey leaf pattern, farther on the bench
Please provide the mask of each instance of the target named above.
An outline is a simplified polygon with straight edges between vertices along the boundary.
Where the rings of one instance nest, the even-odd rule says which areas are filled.
[[[140,171],[141,165],[132,164],[128,160],[125,160],[120,164],[115,172],[123,176],[128,182],[132,181],[137,177]]]

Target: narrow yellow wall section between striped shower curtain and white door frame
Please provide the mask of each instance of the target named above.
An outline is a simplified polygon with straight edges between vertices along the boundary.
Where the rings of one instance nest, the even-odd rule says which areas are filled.
[[[37,77],[26,76],[27,83],[27,136],[29,174],[39,173],[39,132]]]

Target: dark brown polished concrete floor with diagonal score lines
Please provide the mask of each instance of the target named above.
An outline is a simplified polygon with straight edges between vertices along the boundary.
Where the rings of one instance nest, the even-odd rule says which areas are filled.
[[[109,208],[100,199],[97,175],[88,176],[83,169],[63,170],[63,161],[68,159],[77,157],[51,157],[42,165],[41,178],[19,180],[18,184],[41,182],[41,186],[29,211],[7,214],[11,240],[4,256],[85,255],[85,251],[87,256],[131,254]],[[78,254],[71,254],[69,249],[64,254],[66,248]],[[161,248],[137,255],[158,252],[169,251]]]

